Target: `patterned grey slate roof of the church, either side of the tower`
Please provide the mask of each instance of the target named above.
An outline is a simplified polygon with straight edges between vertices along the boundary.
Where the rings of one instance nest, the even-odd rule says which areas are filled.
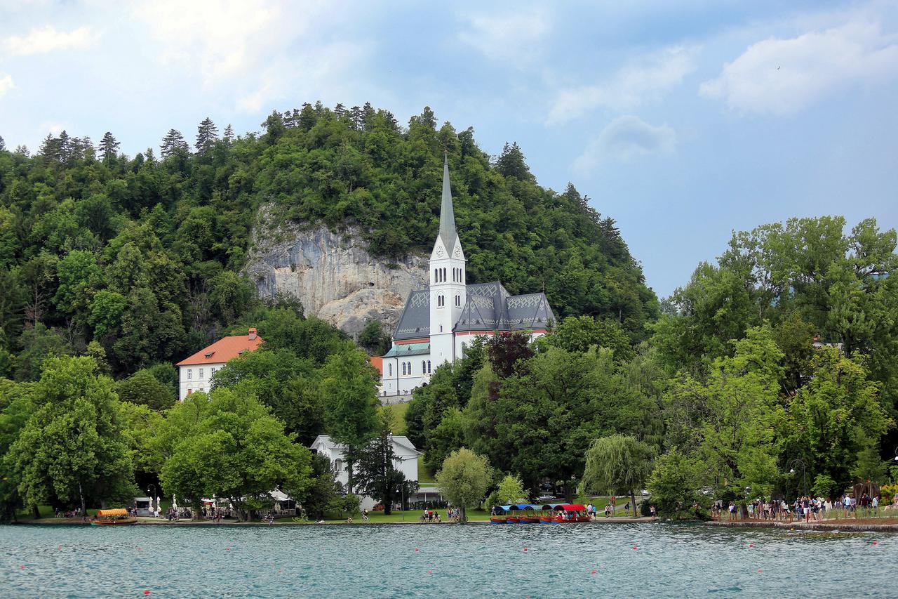
[[[524,331],[547,328],[555,314],[545,293],[509,295],[500,282],[467,286],[462,315],[453,332]],[[418,339],[430,335],[430,292],[412,291],[402,310],[393,339]]]

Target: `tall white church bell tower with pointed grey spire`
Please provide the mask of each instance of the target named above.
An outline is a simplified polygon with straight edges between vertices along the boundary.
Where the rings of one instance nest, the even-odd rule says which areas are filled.
[[[430,254],[430,356],[434,368],[455,359],[453,326],[466,301],[464,252],[455,231],[452,189],[449,185],[449,156],[443,162],[443,201],[440,232]]]

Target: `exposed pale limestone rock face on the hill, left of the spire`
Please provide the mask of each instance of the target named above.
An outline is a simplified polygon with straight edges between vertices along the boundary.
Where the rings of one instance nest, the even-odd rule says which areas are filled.
[[[368,254],[356,229],[334,233],[323,225],[272,226],[260,210],[245,272],[263,298],[287,295],[314,314],[357,335],[369,319],[392,332],[409,292],[427,287],[427,259],[388,262]]]

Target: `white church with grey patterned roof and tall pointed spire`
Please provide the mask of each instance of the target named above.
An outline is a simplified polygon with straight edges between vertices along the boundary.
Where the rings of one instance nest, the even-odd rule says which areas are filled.
[[[531,341],[554,326],[544,293],[509,295],[501,282],[467,284],[462,242],[455,231],[449,162],[443,165],[440,231],[430,254],[430,285],[412,291],[393,333],[393,345],[380,360],[383,399],[411,398],[443,362],[454,362],[479,335],[515,331]],[[380,362],[378,364],[378,362]],[[403,397],[405,396],[405,397]]]

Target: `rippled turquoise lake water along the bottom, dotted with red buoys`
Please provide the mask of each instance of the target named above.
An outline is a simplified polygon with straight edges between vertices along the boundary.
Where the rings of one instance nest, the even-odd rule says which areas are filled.
[[[799,595],[898,595],[898,535],[664,523],[0,526],[2,597]]]

